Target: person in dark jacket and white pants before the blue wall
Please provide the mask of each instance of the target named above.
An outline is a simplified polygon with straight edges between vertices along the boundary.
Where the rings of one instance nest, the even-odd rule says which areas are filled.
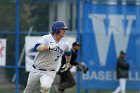
[[[116,63],[116,76],[119,80],[119,86],[112,93],[126,93],[126,80],[129,77],[129,67],[125,59],[125,53],[121,51]]]

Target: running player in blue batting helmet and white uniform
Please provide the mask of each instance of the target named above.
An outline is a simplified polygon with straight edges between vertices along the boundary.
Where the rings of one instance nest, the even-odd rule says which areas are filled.
[[[38,51],[33,66],[30,70],[27,86],[23,93],[34,93],[34,89],[40,83],[40,93],[49,93],[49,89],[56,75],[56,68],[61,56],[65,53],[67,67],[71,67],[71,51],[67,42],[63,39],[66,25],[56,21],[52,25],[52,33],[42,36],[35,44]]]

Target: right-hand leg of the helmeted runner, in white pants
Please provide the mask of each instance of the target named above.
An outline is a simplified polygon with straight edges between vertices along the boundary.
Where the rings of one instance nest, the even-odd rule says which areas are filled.
[[[45,71],[43,75],[40,77],[40,92],[48,93],[52,83],[54,81],[56,72],[55,71]]]

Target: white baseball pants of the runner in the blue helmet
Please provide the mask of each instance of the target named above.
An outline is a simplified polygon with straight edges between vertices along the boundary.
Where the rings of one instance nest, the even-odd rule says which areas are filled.
[[[39,85],[42,93],[48,93],[55,75],[55,71],[41,71],[32,68],[28,77],[27,86],[23,93],[34,93],[34,90],[39,87]]]

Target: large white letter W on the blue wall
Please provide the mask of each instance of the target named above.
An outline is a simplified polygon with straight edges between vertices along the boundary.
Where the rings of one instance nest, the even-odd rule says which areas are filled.
[[[108,15],[108,27],[105,25],[105,19],[107,19],[107,16],[104,14],[90,14],[89,18],[92,20],[100,65],[105,66],[111,35],[113,34],[118,56],[121,50],[126,51],[127,49],[132,23],[136,17],[134,15],[127,15],[126,17],[124,17],[124,15]],[[126,22],[126,26],[124,26],[124,21]]]

